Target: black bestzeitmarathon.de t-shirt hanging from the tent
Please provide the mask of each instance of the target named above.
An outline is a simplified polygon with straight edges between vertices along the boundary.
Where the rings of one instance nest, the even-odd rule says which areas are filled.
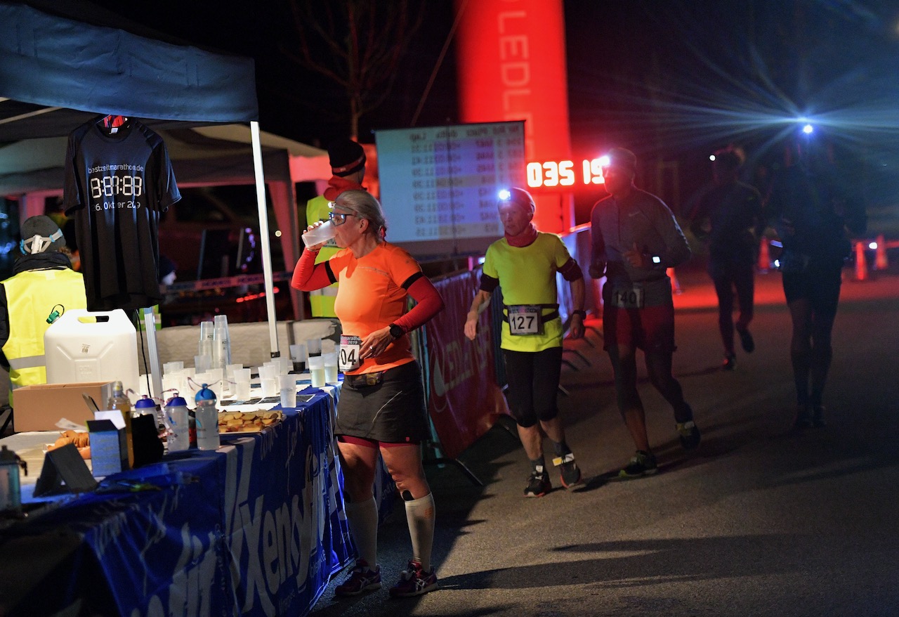
[[[162,300],[159,216],[181,193],[163,139],[133,118],[106,118],[72,131],[66,152],[63,201],[75,217],[87,308],[150,307]]]

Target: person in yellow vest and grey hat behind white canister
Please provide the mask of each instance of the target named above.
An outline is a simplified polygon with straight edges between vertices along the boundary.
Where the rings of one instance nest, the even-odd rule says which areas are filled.
[[[0,282],[0,365],[9,371],[9,403],[22,386],[47,383],[44,333],[54,317],[87,308],[85,277],[72,270],[59,226],[46,216],[22,223],[22,256]],[[58,317],[58,316],[57,316]]]

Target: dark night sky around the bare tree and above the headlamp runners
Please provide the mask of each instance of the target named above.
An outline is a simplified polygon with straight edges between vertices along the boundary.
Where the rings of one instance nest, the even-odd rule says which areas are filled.
[[[347,134],[337,86],[280,52],[279,45],[296,40],[288,0],[237,7],[210,0],[94,3],[179,39],[254,57],[263,130],[317,145]],[[453,18],[451,0],[422,4],[425,24],[387,101],[361,119],[361,141],[373,140],[371,130],[410,126]],[[564,6],[575,158],[626,145],[647,160],[675,160],[686,193],[708,178],[711,150],[734,143],[751,163],[765,161],[779,152],[777,139],[795,130],[784,120],[808,115],[866,174],[899,175],[895,0],[566,0]],[[458,122],[453,51],[418,126]],[[892,188],[875,193],[899,202]]]

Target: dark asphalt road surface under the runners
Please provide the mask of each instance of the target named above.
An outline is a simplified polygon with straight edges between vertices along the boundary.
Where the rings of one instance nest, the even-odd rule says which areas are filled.
[[[790,430],[779,273],[756,279],[756,350],[738,350],[735,371],[719,368],[708,279],[681,275],[674,373],[702,430],[698,451],[681,450],[672,411],[641,367],[660,472],[615,479],[634,445],[601,336],[566,341],[559,407],[585,486],[566,491],[553,476],[547,496],[523,498],[529,463],[517,438],[494,426],[459,457],[485,486],[452,465],[427,467],[440,588],[387,595],[411,555],[397,504],[378,541],[384,587],[334,599],[333,581],[312,614],[899,615],[899,277],[846,275],[826,427]]]

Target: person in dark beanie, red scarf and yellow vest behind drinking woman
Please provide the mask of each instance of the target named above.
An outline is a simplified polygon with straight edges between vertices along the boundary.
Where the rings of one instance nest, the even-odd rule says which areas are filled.
[[[313,197],[306,204],[306,224],[312,225],[316,220],[328,220],[331,212],[330,204],[337,199],[337,195],[344,191],[364,190],[362,178],[365,177],[365,150],[352,139],[340,139],[328,145],[328,160],[331,164],[331,173],[334,174],[328,180],[328,187],[323,195]],[[338,250],[334,239],[318,252],[316,264],[326,262]],[[312,308],[312,317],[336,318],[334,313],[334,298],[337,297],[337,283],[325,289],[309,292],[309,306]]]

